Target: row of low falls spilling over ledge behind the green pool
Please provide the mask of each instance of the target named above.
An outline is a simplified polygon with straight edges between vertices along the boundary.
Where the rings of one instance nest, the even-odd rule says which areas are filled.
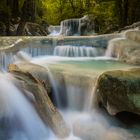
[[[34,45],[34,44],[32,44]],[[41,45],[41,44],[36,44]],[[28,56],[26,55],[28,54]],[[96,56],[103,56],[104,49],[102,48],[95,48],[91,46],[72,46],[72,45],[65,45],[65,46],[56,46],[48,47],[48,46],[28,46],[22,48],[20,51],[17,52],[0,52],[0,69],[7,70],[8,65],[12,64],[17,61],[29,61],[31,57],[42,57],[42,56],[65,56],[65,57],[96,57]],[[55,57],[54,57],[55,58]],[[66,58],[66,59],[67,59]],[[84,59],[83,58],[83,59]]]

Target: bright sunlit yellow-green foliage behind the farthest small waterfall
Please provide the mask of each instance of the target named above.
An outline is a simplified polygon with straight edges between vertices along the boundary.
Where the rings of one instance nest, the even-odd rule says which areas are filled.
[[[114,2],[97,3],[95,0],[44,0],[43,19],[50,24],[60,24],[64,19],[80,18],[86,14],[93,16],[98,24],[98,30],[103,31],[108,25],[117,25],[118,19],[114,13]]]

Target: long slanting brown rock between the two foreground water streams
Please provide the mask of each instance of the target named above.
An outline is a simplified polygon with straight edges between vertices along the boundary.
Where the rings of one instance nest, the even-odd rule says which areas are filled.
[[[47,93],[47,69],[38,65],[19,64],[9,66],[9,71],[18,80],[19,87],[25,90],[25,95],[34,104],[42,120],[58,137],[67,137],[69,128]]]

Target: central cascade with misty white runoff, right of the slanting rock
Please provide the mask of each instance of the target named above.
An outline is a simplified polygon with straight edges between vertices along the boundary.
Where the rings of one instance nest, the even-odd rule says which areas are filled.
[[[58,60],[58,58],[56,59]],[[61,58],[58,61],[60,60]],[[54,60],[54,62],[56,63],[56,60]],[[34,60],[33,63],[39,64],[39,61]],[[43,65],[44,64],[41,64],[41,66]],[[71,126],[73,131],[72,135],[76,135],[77,137],[82,138],[82,140],[133,139],[133,135],[131,133],[123,128],[113,126],[106,118],[106,115],[98,112],[96,108],[93,108],[95,106],[92,106],[91,102],[93,102],[93,100],[91,98],[94,98],[94,87],[82,87],[80,85],[81,82],[79,82],[79,85],[78,83],[75,85],[75,81],[70,83],[65,72],[62,72],[62,75],[57,75],[49,66],[47,67],[49,68],[51,85],[54,89],[53,95],[55,97],[56,105],[62,112],[65,120]],[[115,120],[113,123],[116,123]]]

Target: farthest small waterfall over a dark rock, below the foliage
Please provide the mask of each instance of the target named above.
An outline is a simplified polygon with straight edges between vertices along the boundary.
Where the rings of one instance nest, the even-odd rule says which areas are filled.
[[[60,35],[81,36],[95,35],[95,24],[92,17],[85,15],[82,18],[67,19],[61,22]]]

